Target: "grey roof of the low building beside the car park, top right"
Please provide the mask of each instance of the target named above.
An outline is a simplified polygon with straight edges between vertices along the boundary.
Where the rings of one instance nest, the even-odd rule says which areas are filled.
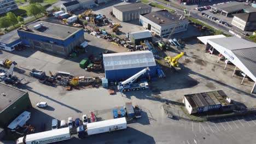
[[[213,8],[220,9],[226,13],[232,13],[235,11],[243,10],[246,8],[251,7],[250,5],[246,5],[245,3],[239,3],[239,2],[230,2],[230,3],[224,3],[212,6]]]

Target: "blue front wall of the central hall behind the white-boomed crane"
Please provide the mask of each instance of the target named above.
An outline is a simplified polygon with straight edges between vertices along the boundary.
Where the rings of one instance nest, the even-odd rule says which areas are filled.
[[[146,67],[142,67],[142,68],[132,68],[132,69],[118,69],[118,70],[105,70],[105,76],[106,79],[108,80],[124,80],[124,79],[128,79],[129,77],[137,74],[139,71],[141,71],[142,69],[144,69]],[[155,77],[156,76],[156,66],[153,67],[149,67],[149,71],[147,71],[147,73],[144,74],[144,76],[148,77],[148,73],[151,77]],[[142,75],[143,76],[143,75]]]

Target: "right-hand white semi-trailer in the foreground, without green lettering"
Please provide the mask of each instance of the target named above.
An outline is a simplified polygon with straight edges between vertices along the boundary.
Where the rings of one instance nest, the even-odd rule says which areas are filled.
[[[125,117],[87,124],[87,134],[94,135],[127,128]]]

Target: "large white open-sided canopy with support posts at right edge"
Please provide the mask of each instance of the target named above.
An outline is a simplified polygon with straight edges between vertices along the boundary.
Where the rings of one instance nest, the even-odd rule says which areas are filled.
[[[243,80],[247,75],[255,82],[253,93],[256,85],[256,43],[237,37],[214,38],[207,40],[207,43],[245,73]]]

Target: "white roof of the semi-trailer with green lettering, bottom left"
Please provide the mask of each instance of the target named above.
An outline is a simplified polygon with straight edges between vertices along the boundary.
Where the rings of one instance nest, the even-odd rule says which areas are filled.
[[[69,127],[44,131],[42,133],[27,135],[26,140],[27,141],[33,141],[33,140],[45,139],[45,138],[48,138],[48,137],[59,136],[59,135],[64,135],[64,134],[69,134]],[[66,137],[66,138],[68,138],[68,137]]]

